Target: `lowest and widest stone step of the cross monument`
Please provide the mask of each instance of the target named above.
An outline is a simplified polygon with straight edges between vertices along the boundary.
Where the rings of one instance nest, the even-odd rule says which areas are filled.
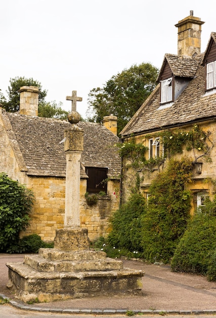
[[[134,269],[90,272],[38,272],[23,262],[7,263],[10,288],[24,302],[141,295],[144,272]]]

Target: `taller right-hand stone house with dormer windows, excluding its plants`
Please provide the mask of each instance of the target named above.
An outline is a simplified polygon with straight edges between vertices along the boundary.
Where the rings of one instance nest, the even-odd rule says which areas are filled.
[[[168,161],[164,157],[162,133],[167,132],[170,140],[183,134],[186,140],[192,131],[197,131],[194,144],[197,141],[200,146],[191,150],[184,146],[183,152],[176,154],[177,158],[191,157],[194,163],[193,180],[187,185],[193,197],[191,213],[204,204],[206,196],[215,193],[213,183],[206,180],[216,179],[216,33],[210,34],[205,52],[200,53],[203,23],[191,11],[190,16],[175,25],[178,54],[164,55],[157,87],[121,131],[124,142],[133,138],[135,143],[148,147],[146,160],[165,160],[164,166],[142,174],[140,190],[146,197],[151,180]],[[125,200],[131,183],[128,169],[124,169],[123,179]]]

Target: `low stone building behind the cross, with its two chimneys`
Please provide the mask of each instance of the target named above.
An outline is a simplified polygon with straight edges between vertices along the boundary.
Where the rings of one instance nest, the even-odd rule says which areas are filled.
[[[35,202],[30,226],[22,235],[36,233],[45,241],[62,228],[65,209],[66,120],[37,116],[38,88],[20,89],[20,111],[0,110],[0,172],[32,189]],[[106,235],[109,217],[119,205],[120,157],[115,146],[117,117],[106,116],[104,125],[77,124],[84,133],[80,161],[80,223],[88,228],[90,240]],[[108,129],[107,129],[107,128]],[[105,182],[104,182],[105,180]],[[85,194],[99,193],[95,205],[88,205]]]

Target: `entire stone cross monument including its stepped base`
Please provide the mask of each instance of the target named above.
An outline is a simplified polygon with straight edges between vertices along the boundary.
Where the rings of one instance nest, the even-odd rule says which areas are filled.
[[[79,185],[83,131],[76,123],[76,91],[65,130],[66,189],[64,228],[56,230],[54,248],[40,248],[24,262],[7,263],[7,287],[22,301],[40,302],[105,295],[141,295],[143,271],[123,268],[121,260],[109,259],[102,250],[90,248],[88,229],[80,227]]]

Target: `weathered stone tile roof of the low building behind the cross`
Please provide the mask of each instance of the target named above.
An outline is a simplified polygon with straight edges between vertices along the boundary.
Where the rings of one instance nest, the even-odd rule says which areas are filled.
[[[20,162],[28,175],[65,177],[66,156],[64,130],[67,121],[2,113],[11,143],[20,151]],[[107,167],[108,176],[120,174],[120,157],[114,144],[120,139],[99,123],[79,122],[84,132],[81,164],[85,167]],[[81,177],[86,177],[81,169]]]

